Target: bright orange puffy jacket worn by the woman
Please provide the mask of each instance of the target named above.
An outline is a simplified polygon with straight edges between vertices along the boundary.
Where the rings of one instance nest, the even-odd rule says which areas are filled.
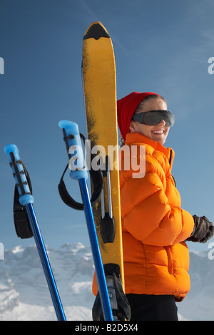
[[[193,217],[180,208],[171,168],[174,152],[139,133],[126,145],[146,146],[146,174],[123,168],[121,149],[121,217],[126,294],[170,294],[181,301],[190,289],[189,253],[185,239]],[[138,147],[139,148],[139,147]],[[131,155],[130,155],[131,159]]]

